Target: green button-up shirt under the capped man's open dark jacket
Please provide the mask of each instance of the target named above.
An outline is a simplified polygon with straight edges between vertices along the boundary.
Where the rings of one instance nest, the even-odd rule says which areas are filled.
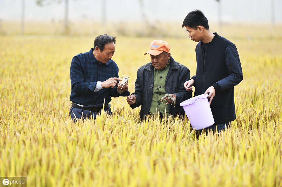
[[[154,68],[154,87],[153,87],[153,96],[151,102],[150,113],[154,115],[158,115],[160,112],[164,115],[167,113],[169,116],[168,105],[163,102],[162,105],[161,98],[166,94],[165,84],[166,84],[166,76],[168,75],[170,67],[170,59],[168,61],[168,65],[162,70],[157,70]]]

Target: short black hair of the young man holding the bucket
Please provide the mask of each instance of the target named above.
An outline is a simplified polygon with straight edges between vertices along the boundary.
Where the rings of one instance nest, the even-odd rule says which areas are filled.
[[[208,19],[202,13],[201,10],[194,10],[187,14],[185,17],[182,27],[191,27],[197,29],[198,26],[203,26],[205,29],[210,29]]]

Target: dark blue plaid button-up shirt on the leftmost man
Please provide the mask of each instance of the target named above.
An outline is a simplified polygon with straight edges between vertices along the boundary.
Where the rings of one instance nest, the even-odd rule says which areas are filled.
[[[118,77],[118,66],[113,60],[99,63],[93,55],[93,48],[72,58],[70,65],[71,94],[70,101],[81,105],[102,106],[111,101],[111,97],[128,96],[129,91],[121,94],[114,88],[103,88],[94,92],[97,81]]]

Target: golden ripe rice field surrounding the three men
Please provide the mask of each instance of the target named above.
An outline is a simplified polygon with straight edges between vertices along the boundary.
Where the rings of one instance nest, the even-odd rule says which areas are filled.
[[[70,62],[95,37],[0,36],[0,176],[27,176],[27,186],[282,186],[281,37],[228,38],[244,75],[237,119],[199,140],[187,119],[140,121],[125,97],[111,101],[113,116],[73,123]],[[131,93],[153,39],[196,72],[188,37],[117,37],[113,60]]]

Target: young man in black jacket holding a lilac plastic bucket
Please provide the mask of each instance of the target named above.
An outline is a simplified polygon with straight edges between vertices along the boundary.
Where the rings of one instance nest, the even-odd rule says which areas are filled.
[[[184,83],[184,88],[191,91],[195,86],[194,96],[209,94],[215,124],[206,131],[217,128],[220,132],[236,119],[234,86],[243,80],[237,48],[209,30],[208,19],[200,10],[188,13],[182,27],[186,28],[191,40],[199,42],[196,46],[196,75]]]

